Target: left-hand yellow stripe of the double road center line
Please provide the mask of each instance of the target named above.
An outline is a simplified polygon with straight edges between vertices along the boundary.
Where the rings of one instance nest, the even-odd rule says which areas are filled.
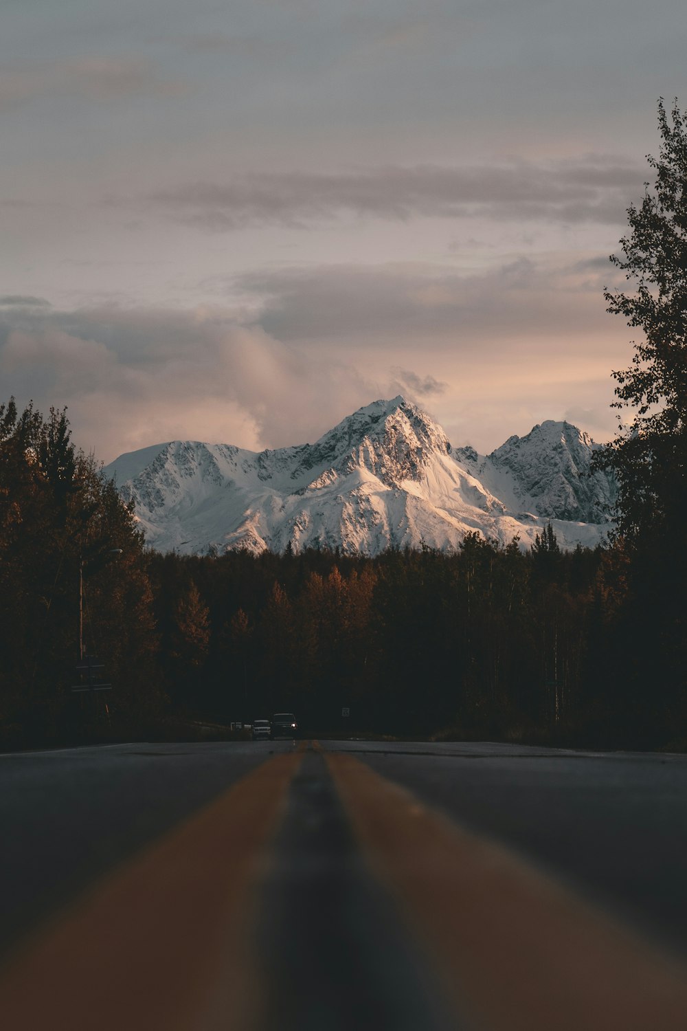
[[[2,1026],[260,1027],[255,888],[301,760],[274,756],[27,942],[0,974]]]

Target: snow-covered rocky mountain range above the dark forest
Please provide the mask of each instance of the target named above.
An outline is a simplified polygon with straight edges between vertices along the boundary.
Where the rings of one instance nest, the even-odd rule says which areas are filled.
[[[134,499],[148,543],[182,554],[247,548],[456,547],[478,531],[523,544],[551,522],[559,543],[593,546],[608,532],[615,484],[590,472],[591,438],[545,422],[491,455],[451,447],[403,397],[375,401],[314,444],[256,454],[173,440],[105,467]]]

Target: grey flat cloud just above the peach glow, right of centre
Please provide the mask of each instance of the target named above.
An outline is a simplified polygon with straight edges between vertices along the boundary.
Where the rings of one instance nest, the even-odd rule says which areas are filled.
[[[606,265],[607,276],[551,256],[472,274],[422,264],[328,265],[244,273],[232,286],[260,301],[257,324],[282,340],[389,351],[410,342],[460,354],[478,341],[497,353],[525,338],[536,353],[561,338],[584,347],[590,332],[610,330]]]

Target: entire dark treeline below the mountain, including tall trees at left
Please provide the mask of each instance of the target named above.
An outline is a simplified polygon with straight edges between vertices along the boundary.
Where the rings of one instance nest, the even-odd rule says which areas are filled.
[[[665,548],[658,559],[669,581]],[[620,541],[563,553],[550,526],[528,552],[478,534],[448,555],[376,559],[146,552],[65,412],[0,405],[8,744],[173,736],[278,710],[313,732],[665,744],[685,736],[684,627],[656,583],[656,563]],[[81,652],[111,691],[72,690]]]

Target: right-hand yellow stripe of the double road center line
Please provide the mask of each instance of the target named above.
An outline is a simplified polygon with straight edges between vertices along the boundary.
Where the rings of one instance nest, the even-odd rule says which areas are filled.
[[[687,971],[674,957],[351,756],[327,760],[374,872],[470,1026],[687,1027]]]

